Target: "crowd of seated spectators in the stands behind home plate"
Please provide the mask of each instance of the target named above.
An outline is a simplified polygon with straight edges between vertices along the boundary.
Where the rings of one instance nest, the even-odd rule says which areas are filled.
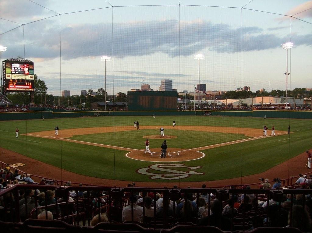
[[[0,170],[0,177],[1,190],[17,183],[26,184],[34,182],[30,174],[20,175],[17,170],[12,172],[9,165]],[[306,175],[299,175],[296,184],[300,186],[297,188],[312,189],[312,184],[305,182],[306,178]],[[263,179],[263,183],[261,182],[262,184],[259,188],[280,189],[280,179],[274,178],[273,181],[274,183],[270,184],[268,179]],[[40,184],[50,185],[52,183],[43,181]],[[70,181],[64,186],[71,190]],[[81,187],[82,183],[80,183],[79,186]],[[173,188],[177,189],[178,187],[174,186]],[[205,188],[206,185],[203,184],[202,189]],[[251,189],[249,186],[244,188]],[[198,196],[192,192],[184,192],[180,197],[174,199],[174,201],[169,198],[164,198],[162,193],[133,192],[128,194],[128,196],[125,194],[123,201],[121,201],[120,198],[115,198],[110,202],[110,197],[107,192],[70,191],[67,197],[63,196],[57,198],[55,196],[55,191],[52,189],[46,190],[45,192],[44,190],[40,190],[40,188],[19,189],[18,211],[20,221],[25,221],[27,218],[46,219],[46,216],[48,216],[48,219],[55,219],[56,217],[76,215],[77,211],[79,211],[79,206],[76,205],[78,203],[76,200],[78,199],[83,201],[86,215],[92,219],[91,226],[95,226],[99,222],[131,222],[132,214],[133,221],[138,223],[153,221],[153,219],[162,219],[165,215],[168,221],[173,220],[173,217],[175,217],[176,221],[192,222],[199,226],[216,226],[223,231],[232,231],[234,229],[235,219],[241,217],[242,211],[244,211],[246,215],[252,211],[254,211],[253,213],[259,211],[264,214],[267,213],[269,209],[269,215],[264,214],[265,217],[260,215],[254,216],[247,220],[249,224],[247,226],[249,226],[250,229],[261,226],[286,227],[289,226],[291,220],[292,227],[297,227],[303,232],[312,230],[312,194],[305,196],[303,194],[295,194],[293,196],[290,194],[283,194],[280,201],[275,201],[272,198],[266,201],[265,196],[258,195],[256,197],[255,194],[252,193],[252,190],[245,195],[240,194],[238,190],[237,193],[230,194],[227,200],[221,200],[217,195],[207,192],[199,193]],[[16,210],[13,204],[9,204],[14,203],[13,198],[16,198],[16,196],[5,195],[0,198],[1,221],[14,221],[13,216],[15,216]],[[58,205],[54,205],[56,204],[56,200]],[[164,203],[165,200],[168,200],[168,203]],[[69,204],[62,205],[62,203],[64,204],[67,202],[69,202]],[[293,206],[291,203],[293,203]],[[111,206],[106,209],[110,218],[103,213],[99,216],[98,211],[95,210],[100,206],[107,205]],[[39,208],[35,212],[34,209],[36,206]],[[166,206],[168,208],[166,208]],[[293,211],[292,215],[290,215],[291,206]],[[156,208],[156,210],[154,208]],[[166,209],[167,212],[165,213]],[[10,214],[7,214],[8,212]],[[114,213],[116,214],[115,218],[113,218]],[[63,221],[73,224],[73,219],[70,218]]]

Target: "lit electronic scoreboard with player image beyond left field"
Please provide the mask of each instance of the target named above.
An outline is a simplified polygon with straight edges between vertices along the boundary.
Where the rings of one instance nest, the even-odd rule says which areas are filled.
[[[5,92],[34,91],[34,63],[26,59],[7,59],[2,62]]]

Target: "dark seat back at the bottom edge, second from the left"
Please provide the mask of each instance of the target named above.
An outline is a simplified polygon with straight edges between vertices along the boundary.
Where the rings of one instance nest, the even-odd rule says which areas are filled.
[[[95,226],[85,226],[82,227],[83,232],[142,232],[142,233],[152,233],[155,232],[154,229],[144,228],[138,224],[134,223],[111,223],[111,222],[100,222]]]

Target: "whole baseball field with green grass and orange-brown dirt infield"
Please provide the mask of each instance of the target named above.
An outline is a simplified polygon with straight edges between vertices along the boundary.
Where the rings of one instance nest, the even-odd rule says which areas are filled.
[[[139,121],[140,130],[134,128],[135,120]],[[54,130],[57,125],[58,136]],[[268,136],[263,136],[263,125],[268,127]],[[272,126],[276,136],[270,136]],[[164,128],[165,138],[159,137],[160,127]],[[46,176],[52,177],[57,175],[50,169],[54,173],[66,171],[127,182],[216,181],[266,171],[271,172],[272,179],[279,166],[285,177],[290,167],[301,166],[291,162],[287,168],[285,162],[290,159],[306,163],[306,156],[300,154],[311,149],[311,132],[309,119],[157,115],[155,119],[35,119],[2,121],[0,147],[15,152],[14,157],[2,153],[1,161],[25,163],[29,171],[41,170],[46,164]],[[150,141],[151,154],[144,153],[146,139]],[[163,139],[168,145],[166,158],[160,158]],[[30,162],[32,167],[27,164]]]

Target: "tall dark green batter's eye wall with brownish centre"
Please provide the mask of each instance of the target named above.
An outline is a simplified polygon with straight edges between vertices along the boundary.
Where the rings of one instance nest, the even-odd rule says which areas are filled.
[[[170,111],[177,110],[176,91],[128,91],[129,111]]]

